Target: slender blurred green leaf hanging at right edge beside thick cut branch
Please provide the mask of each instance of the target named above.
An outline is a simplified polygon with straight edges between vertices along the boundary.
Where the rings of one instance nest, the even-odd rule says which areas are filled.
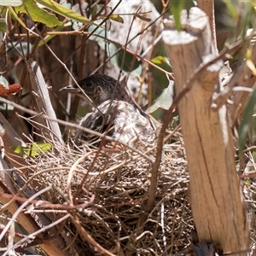
[[[256,88],[254,86],[253,93],[247,102],[247,106],[244,110],[244,113],[242,114],[241,125],[239,127],[238,146],[239,146],[240,155],[242,155],[242,152],[245,148],[247,132],[248,132],[248,128],[251,123],[251,120],[253,118],[253,108],[255,106],[255,103],[256,103]]]

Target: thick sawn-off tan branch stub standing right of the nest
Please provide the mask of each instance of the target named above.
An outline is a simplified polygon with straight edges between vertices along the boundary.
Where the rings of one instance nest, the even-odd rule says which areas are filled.
[[[213,93],[223,89],[218,83],[223,61],[206,66],[218,55],[205,13],[192,8],[189,17],[183,13],[182,23],[183,31],[177,32],[174,22],[168,22],[163,38],[177,94],[189,87],[178,109],[197,236],[199,241],[221,244],[224,253],[241,252],[248,249],[249,231],[236,175],[234,144],[226,106],[211,108]]]

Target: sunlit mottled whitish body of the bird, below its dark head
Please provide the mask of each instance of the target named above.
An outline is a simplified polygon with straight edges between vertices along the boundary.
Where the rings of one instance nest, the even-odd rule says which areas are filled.
[[[130,102],[102,102],[93,113],[81,120],[80,125],[105,132],[122,143],[134,143],[138,139],[153,143],[155,138],[154,127],[148,116]]]

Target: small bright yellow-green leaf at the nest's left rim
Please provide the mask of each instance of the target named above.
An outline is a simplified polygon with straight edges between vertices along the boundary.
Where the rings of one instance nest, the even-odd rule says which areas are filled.
[[[50,143],[33,143],[28,147],[15,146],[12,147],[16,154],[27,154],[28,156],[36,157],[44,152],[48,152],[52,149],[52,145]],[[43,152],[42,152],[43,151]]]

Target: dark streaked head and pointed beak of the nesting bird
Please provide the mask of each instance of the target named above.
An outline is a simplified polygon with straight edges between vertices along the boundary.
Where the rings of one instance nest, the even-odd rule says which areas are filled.
[[[118,83],[116,79],[105,74],[93,74],[78,82],[84,93],[90,97],[91,101],[99,106],[102,102],[114,99],[130,102],[131,97],[128,95],[124,86]],[[86,100],[84,93],[80,90],[77,84],[67,85],[61,88],[60,91],[67,91]]]

